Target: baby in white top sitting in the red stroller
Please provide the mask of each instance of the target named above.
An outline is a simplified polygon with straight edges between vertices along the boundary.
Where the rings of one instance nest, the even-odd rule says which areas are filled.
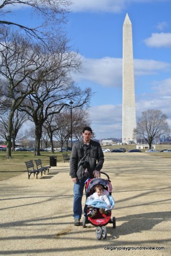
[[[108,215],[110,212],[111,212],[111,203],[108,199],[108,191],[107,190],[104,190],[103,186],[98,184],[95,186],[95,193],[93,193],[93,195],[90,195],[88,198],[87,198],[87,201],[86,201],[86,204],[88,204],[87,206],[87,209],[89,209],[89,212],[87,214],[88,217],[94,217],[97,215],[97,209],[91,205],[89,205],[89,201],[90,200],[102,200],[104,202],[107,203],[107,208],[100,208],[99,211],[100,213],[104,213],[106,215]]]

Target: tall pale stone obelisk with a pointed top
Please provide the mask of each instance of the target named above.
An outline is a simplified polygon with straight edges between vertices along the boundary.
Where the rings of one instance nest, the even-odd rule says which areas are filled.
[[[132,23],[128,14],[123,24],[123,84],[122,84],[122,142],[133,143],[136,128],[135,92],[133,72]]]

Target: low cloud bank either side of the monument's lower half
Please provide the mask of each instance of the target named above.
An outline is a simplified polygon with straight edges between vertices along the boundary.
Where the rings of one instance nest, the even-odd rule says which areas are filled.
[[[171,78],[156,82],[151,94],[136,100],[136,116],[147,109],[160,109],[171,124]],[[148,99],[147,99],[148,97]],[[101,105],[89,108],[92,128],[96,138],[120,138],[122,136],[122,105]]]

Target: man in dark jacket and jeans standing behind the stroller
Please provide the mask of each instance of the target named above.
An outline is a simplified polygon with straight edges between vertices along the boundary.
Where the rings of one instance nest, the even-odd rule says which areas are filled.
[[[91,140],[91,136],[92,129],[84,127],[82,140],[73,145],[70,156],[70,176],[74,182],[73,216],[75,226],[80,225],[82,216],[84,182],[88,178],[98,178],[104,162],[101,145],[99,142]]]

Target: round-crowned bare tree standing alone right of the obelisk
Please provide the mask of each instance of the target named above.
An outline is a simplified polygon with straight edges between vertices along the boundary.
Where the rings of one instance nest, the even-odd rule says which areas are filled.
[[[149,148],[152,148],[152,141],[155,138],[171,132],[166,119],[167,116],[161,110],[148,109],[139,117],[134,133],[137,137],[144,138]]]

